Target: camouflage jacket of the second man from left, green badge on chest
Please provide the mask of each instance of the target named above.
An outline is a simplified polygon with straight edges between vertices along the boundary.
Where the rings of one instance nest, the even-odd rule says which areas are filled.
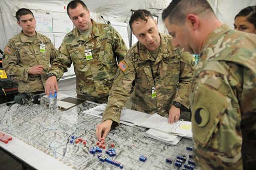
[[[94,20],[92,23],[88,38],[84,38],[77,28],[66,35],[59,47],[59,56],[49,71],[59,79],[73,62],[76,92],[86,95],[88,100],[109,95],[118,67],[117,60],[121,61],[127,52],[122,37],[112,26]],[[86,59],[85,50],[91,50],[93,59]]]

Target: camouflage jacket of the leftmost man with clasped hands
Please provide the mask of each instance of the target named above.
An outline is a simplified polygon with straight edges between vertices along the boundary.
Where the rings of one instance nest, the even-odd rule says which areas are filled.
[[[40,52],[40,44],[45,44],[45,53]],[[18,82],[19,92],[45,91],[46,71],[56,55],[54,45],[45,35],[36,33],[36,39],[32,42],[21,32],[8,41],[3,56],[3,66],[7,74]],[[29,68],[35,65],[44,66],[41,75],[28,73]]]

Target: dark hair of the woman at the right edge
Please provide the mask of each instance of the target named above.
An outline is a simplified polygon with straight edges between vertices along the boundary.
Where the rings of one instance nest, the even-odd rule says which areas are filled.
[[[245,16],[246,20],[254,25],[256,28],[256,6],[249,6],[242,9],[235,17],[236,19],[238,16]]]

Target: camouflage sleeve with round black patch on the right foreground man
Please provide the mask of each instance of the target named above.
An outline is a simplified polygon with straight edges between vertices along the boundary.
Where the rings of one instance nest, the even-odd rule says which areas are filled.
[[[202,169],[243,169],[242,141],[247,146],[244,150],[251,153],[244,155],[245,161],[255,162],[252,146],[256,140],[251,135],[256,122],[252,116],[256,110],[256,85],[252,81],[256,78],[255,72],[236,63],[222,61],[208,63],[200,75],[196,75],[193,87],[197,88],[193,88],[194,92],[190,94],[194,95],[190,98],[193,99],[191,122],[196,159]],[[201,121],[197,118],[199,115]],[[247,128],[241,131],[240,127]],[[242,137],[243,132],[248,135],[243,134]]]

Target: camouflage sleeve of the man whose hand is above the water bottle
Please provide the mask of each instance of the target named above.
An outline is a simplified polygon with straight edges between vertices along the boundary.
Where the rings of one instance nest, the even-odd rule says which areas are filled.
[[[66,37],[65,37],[66,38]],[[52,66],[50,67],[48,72],[52,72],[56,75],[57,80],[59,80],[64,72],[68,71],[68,68],[72,64],[71,57],[69,55],[69,52],[67,50],[66,44],[65,44],[65,38],[63,39],[57,54],[56,58],[52,62]]]

